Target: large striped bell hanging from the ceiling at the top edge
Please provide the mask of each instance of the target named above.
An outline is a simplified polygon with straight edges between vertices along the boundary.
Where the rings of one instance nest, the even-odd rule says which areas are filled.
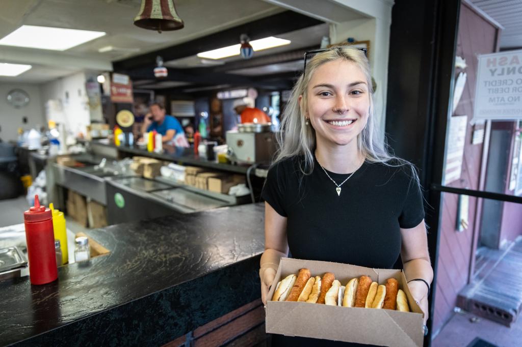
[[[134,24],[158,32],[182,29],[184,26],[176,13],[174,0],[141,0]]]

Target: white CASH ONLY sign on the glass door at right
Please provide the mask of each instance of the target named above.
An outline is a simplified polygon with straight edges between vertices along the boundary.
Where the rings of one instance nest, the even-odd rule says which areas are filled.
[[[522,49],[479,55],[473,122],[522,119]]]

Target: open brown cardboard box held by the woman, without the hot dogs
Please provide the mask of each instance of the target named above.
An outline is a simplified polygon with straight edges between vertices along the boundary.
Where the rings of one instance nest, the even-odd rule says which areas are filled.
[[[401,270],[281,258],[268,298],[272,298],[277,283],[282,278],[297,274],[301,268],[310,269],[312,276],[323,276],[325,272],[333,272],[342,286],[345,286],[350,279],[362,275],[370,276],[379,284],[385,284],[388,278],[393,277],[399,282],[399,288],[408,296],[408,304],[412,312],[307,302],[267,301],[267,333],[383,346],[422,346],[423,314],[413,300],[404,272]]]

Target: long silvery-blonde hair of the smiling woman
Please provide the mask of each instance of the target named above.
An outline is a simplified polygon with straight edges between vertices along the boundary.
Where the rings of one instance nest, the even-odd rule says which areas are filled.
[[[300,107],[299,97],[302,95],[302,105],[307,105],[307,86],[312,79],[317,68],[328,63],[342,59],[355,64],[363,72],[366,78],[370,97],[370,109],[368,110],[368,121],[366,127],[357,135],[357,148],[365,157],[367,162],[382,163],[387,166],[405,166],[411,169],[411,178],[419,184],[419,177],[415,167],[404,159],[400,159],[390,153],[385,141],[379,140],[377,125],[374,121],[374,99],[372,88],[372,77],[370,64],[363,51],[350,46],[334,46],[325,52],[321,52],[312,57],[306,64],[306,70],[299,77],[289,102],[284,108],[280,125],[280,132],[277,136],[279,151],[274,160],[274,164],[283,159],[295,156],[302,156],[303,165],[301,171],[304,175],[310,175],[314,169],[314,149],[316,146],[315,130],[312,126],[305,125],[305,116]]]

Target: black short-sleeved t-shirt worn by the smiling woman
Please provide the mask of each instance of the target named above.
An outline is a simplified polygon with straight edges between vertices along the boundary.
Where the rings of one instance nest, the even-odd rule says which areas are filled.
[[[300,165],[301,157],[293,157],[272,166],[262,194],[288,218],[292,257],[392,268],[400,253],[400,228],[416,227],[424,218],[409,166],[366,160],[337,195],[317,161],[311,175],[303,175]],[[327,172],[337,184],[349,176]]]

